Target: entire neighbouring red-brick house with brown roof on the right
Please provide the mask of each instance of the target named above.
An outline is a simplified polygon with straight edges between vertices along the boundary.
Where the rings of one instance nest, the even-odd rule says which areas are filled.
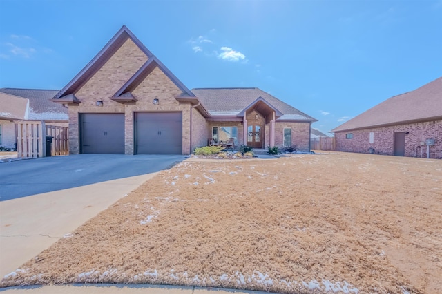
[[[336,151],[442,158],[442,77],[332,130]]]

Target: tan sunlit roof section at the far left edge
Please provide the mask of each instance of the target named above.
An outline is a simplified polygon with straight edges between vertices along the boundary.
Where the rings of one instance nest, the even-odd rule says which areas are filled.
[[[29,100],[0,92],[0,120],[26,119]]]

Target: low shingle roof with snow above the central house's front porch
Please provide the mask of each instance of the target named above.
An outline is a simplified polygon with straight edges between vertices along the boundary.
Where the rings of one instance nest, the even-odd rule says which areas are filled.
[[[241,116],[243,110],[248,109],[252,103],[265,101],[268,107],[280,114],[278,120],[317,121],[256,87],[196,88],[192,92],[213,117]]]

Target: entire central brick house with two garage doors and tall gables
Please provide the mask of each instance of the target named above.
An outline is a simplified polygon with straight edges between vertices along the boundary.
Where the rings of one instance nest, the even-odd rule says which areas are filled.
[[[190,154],[211,138],[309,151],[316,121],[257,88],[189,90],[125,26],[53,100],[70,154]]]

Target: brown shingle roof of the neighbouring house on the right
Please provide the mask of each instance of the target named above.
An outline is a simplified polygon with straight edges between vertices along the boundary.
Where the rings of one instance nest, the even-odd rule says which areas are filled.
[[[442,77],[416,90],[393,96],[336,127],[332,132],[442,118]]]

